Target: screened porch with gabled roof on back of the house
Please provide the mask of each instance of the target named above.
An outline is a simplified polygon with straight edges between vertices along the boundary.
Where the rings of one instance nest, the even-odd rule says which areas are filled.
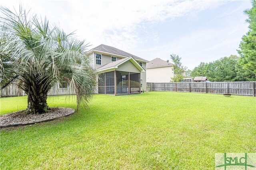
[[[132,57],[106,64],[98,71],[98,93],[140,94],[140,72],[144,71]]]

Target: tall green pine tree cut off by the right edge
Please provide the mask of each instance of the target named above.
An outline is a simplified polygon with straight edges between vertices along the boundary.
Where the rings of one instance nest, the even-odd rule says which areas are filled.
[[[245,10],[248,15],[249,31],[242,37],[238,53],[239,63],[245,70],[246,79],[256,80],[256,0],[252,0],[252,8]]]

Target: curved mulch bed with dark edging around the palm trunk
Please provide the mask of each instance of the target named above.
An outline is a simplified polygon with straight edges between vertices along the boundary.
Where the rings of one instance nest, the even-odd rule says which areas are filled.
[[[0,116],[0,128],[50,121],[59,117],[71,115],[75,110],[71,108],[51,108],[47,113],[25,114],[25,110],[8,113]]]

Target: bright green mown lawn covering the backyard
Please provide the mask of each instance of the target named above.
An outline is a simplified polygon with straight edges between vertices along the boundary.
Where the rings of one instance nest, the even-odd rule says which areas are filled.
[[[76,107],[65,98],[48,104]],[[26,97],[0,102],[1,114],[26,108]],[[256,150],[255,97],[97,95],[89,107],[61,121],[2,129],[0,169],[214,169],[216,152]]]

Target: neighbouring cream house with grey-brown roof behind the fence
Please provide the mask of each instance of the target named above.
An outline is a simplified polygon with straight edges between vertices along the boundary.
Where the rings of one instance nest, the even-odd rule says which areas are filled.
[[[163,83],[170,82],[174,78],[174,66],[169,61],[156,58],[146,64],[147,82]],[[185,76],[186,73],[184,72]]]

